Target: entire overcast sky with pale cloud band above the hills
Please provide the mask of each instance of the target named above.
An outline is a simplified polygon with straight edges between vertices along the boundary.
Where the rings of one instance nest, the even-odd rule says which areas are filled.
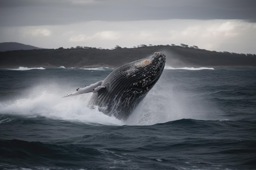
[[[0,0],[0,42],[256,54],[256,0]]]

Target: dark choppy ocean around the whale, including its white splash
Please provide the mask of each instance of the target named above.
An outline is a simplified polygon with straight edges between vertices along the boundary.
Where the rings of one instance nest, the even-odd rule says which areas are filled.
[[[256,170],[256,68],[166,66],[121,121],[65,97],[113,69],[0,70],[2,170]]]

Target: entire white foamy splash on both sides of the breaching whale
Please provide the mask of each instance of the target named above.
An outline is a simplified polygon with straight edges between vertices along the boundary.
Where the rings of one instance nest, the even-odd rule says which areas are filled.
[[[216,108],[211,101],[196,97],[190,91],[177,91],[163,73],[153,89],[146,95],[127,121],[109,117],[95,109],[88,108],[92,93],[62,98],[73,91],[60,85],[46,84],[33,87],[30,94],[0,102],[0,114],[43,116],[50,119],[80,121],[85,124],[140,125],[147,126],[178,119],[214,120]],[[191,93],[191,94],[190,94]],[[192,97],[192,98],[191,98]],[[6,120],[5,120],[6,121]]]

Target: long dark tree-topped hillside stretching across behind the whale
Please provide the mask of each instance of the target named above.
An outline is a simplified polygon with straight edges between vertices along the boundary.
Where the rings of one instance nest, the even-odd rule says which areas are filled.
[[[117,68],[128,62],[152,55],[155,51],[166,55],[166,65],[179,67],[256,67],[256,55],[207,51],[182,46],[140,46],[138,48],[96,49],[40,49],[0,52],[0,68]]]

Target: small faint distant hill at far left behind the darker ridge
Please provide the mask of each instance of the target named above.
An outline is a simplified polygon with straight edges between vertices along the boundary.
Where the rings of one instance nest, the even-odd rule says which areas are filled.
[[[13,50],[34,50],[41,49],[36,46],[25,45],[18,42],[2,42],[0,43],[0,51],[13,51]]]

